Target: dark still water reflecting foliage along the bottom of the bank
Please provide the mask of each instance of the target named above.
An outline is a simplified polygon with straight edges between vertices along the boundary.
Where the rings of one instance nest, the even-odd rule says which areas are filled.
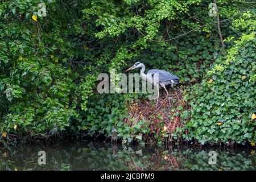
[[[46,165],[38,164],[39,151],[46,152]],[[209,164],[209,151],[216,152],[216,164]],[[26,144],[0,148],[0,170],[255,170],[254,153],[247,147],[129,147],[95,141]]]

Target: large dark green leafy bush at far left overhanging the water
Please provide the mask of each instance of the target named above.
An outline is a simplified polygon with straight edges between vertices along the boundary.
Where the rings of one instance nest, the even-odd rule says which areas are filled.
[[[71,118],[78,116],[75,101],[82,97],[79,88],[85,84],[75,80],[85,75],[79,77],[79,72],[73,71],[72,61],[82,55],[79,41],[74,42],[82,32],[80,28],[73,30],[79,26],[81,14],[77,14],[76,5],[47,2],[46,18],[38,17],[35,22],[31,16],[37,15],[33,12],[38,12],[38,3],[1,4],[0,133],[48,137],[65,130]],[[85,86],[87,90],[92,87]]]

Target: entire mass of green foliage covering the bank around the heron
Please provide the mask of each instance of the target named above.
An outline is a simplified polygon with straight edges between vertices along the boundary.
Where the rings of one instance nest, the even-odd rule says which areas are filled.
[[[228,51],[222,57],[208,1],[45,1],[40,16],[41,2],[0,3],[0,140],[65,130],[144,140],[147,121],[123,122],[129,103],[144,96],[96,90],[99,73],[141,61],[181,78],[192,106],[182,114],[184,138],[255,141],[254,8],[233,16],[246,3],[217,1]]]

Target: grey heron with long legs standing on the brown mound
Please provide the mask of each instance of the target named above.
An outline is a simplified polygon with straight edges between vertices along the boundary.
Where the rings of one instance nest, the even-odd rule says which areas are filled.
[[[141,68],[140,74],[141,74],[142,79],[151,82],[151,84],[154,84],[156,86],[156,88],[158,89],[158,97],[156,100],[156,105],[158,105],[159,85],[162,86],[164,88],[164,90],[166,90],[167,98],[168,98],[169,93],[166,89],[166,85],[171,85],[171,87],[173,88],[174,84],[179,83],[179,80],[180,80],[180,78],[177,77],[176,75],[173,75],[172,73],[169,73],[167,71],[163,71],[160,69],[150,69],[150,71],[148,71],[147,74],[145,74],[144,73],[145,65],[141,62],[135,63],[132,67],[127,69],[125,72],[130,71],[131,69],[135,69],[135,68]],[[154,79],[155,76],[156,76],[156,79]],[[168,102],[171,105],[169,98],[168,98]]]

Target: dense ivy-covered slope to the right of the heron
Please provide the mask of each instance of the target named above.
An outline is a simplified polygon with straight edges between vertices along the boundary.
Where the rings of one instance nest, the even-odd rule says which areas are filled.
[[[255,16],[255,11],[248,14]],[[231,28],[237,31],[246,18],[243,16],[241,21],[233,22]],[[251,119],[256,111],[256,38],[252,31],[255,26],[254,20],[243,25],[240,31],[246,32],[232,40],[233,46],[229,48],[228,55],[219,57],[204,80],[190,89],[192,94],[187,99],[192,105],[191,121],[184,128],[189,131],[185,138],[193,138],[203,144],[256,140],[256,123]]]

